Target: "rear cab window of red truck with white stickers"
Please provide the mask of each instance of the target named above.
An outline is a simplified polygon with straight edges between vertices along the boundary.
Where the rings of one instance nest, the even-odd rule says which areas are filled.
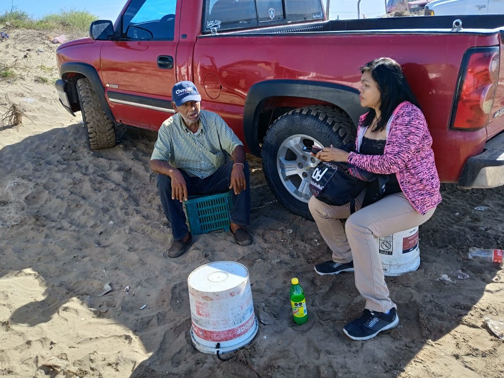
[[[320,0],[208,0],[203,32],[323,18]]]

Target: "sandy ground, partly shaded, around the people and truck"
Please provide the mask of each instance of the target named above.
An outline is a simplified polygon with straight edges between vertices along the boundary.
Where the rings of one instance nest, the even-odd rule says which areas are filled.
[[[56,98],[54,34],[3,30],[11,37],[0,40],[0,64],[14,64],[16,77],[0,79],[0,114],[16,104],[24,116],[0,129],[0,375],[504,376],[504,344],[484,324],[504,318],[504,273],[467,259],[473,245],[504,248],[504,188],[443,185],[420,227],[419,269],[386,279],[399,326],[352,341],[342,327],[363,308],[353,274],[314,273],[327,247],[313,222],[276,203],[260,159],[249,157],[254,244],[216,232],[163,258],[171,233],[148,166],[156,134],[123,127],[116,147],[91,152],[80,114]],[[187,276],[225,260],[247,267],[261,322],[222,362],[191,341]],[[459,269],[469,278],[457,279]],[[308,305],[302,326],[290,312],[294,276]]]

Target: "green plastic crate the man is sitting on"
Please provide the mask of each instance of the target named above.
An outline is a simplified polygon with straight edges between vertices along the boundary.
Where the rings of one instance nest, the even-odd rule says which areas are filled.
[[[215,230],[229,230],[231,192],[196,197],[185,201],[184,205],[193,235]]]

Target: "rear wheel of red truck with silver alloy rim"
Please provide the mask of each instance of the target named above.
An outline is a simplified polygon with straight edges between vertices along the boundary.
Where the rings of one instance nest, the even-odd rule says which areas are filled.
[[[308,210],[309,182],[319,160],[303,146],[342,146],[355,140],[346,113],[313,105],[283,114],[273,122],[263,141],[264,175],[278,201],[290,212],[312,219]]]

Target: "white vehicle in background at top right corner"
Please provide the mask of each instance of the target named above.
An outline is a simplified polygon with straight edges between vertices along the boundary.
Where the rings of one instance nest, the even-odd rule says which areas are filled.
[[[425,16],[504,14],[504,0],[434,0]]]

